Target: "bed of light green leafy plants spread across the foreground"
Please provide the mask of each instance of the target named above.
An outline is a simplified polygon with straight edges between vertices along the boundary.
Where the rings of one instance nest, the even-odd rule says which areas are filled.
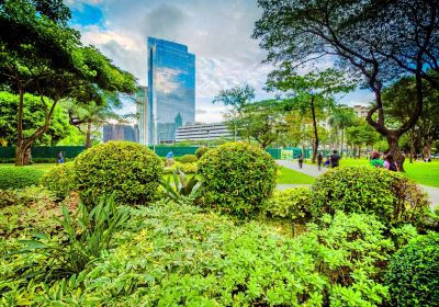
[[[342,213],[334,220],[325,217],[324,223],[325,227],[311,226],[307,236],[288,238],[255,221],[235,226],[194,206],[160,202],[132,208],[124,231],[114,237],[116,246],[79,274],[26,286],[16,278],[2,278],[0,291],[3,302],[27,299],[43,306],[54,302],[70,306],[383,304],[387,288],[376,276],[392,250],[392,242],[383,238],[383,225],[370,216]],[[16,243],[0,245],[10,249]],[[0,261],[0,272],[9,274],[7,265],[21,266],[21,255],[13,264]]]

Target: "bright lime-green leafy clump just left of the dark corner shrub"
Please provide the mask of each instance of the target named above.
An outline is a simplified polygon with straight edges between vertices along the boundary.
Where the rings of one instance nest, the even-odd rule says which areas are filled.
[[[333,285],[330,306],[380,305],[389,298],[381,276],[394,245],[384,231],[385,226],[371,215],[338,212],[324,215],[319,225],[309,224],[308,232],[299,237]]]

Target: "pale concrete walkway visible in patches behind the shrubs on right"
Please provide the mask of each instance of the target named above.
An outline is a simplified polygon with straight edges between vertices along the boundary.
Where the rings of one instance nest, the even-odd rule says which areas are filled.
[[[290,161],[290,160],[277,160],[279,166],[282,166],[284,168],[288,169],[292,169],[294,171],[311,175],[311,177],[318,177],[322,173],[324,173],[327,169],[326,168],[322,168],[322,170],[319,171],[317,169],[316,166],[313,164],[303,164],[302,169],[299,168],[299,162],[296,160],[294,161]],[[289,187],[293,187],[293,186],[309,186],[311,184],[278,184],[278,189],[279,190],[285,190]],[[431,202],[431,208],[435,208],[436,206],[439,205],[439,189],[438,187],[434,187],[434,186],[427,186],[427,185],[421,185],[419,184],[419,186],[423,189],[424,192],[426,192],[430,198]]]

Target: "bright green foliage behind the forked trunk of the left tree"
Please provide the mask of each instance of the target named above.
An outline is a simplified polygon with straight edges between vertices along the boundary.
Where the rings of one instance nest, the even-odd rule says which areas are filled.
[[[24,137],[29,137],[37,127],[44,125],[45,114],[41,109],[38,96],[24,94],[23,100],[23,135]],[[18,95],[9,92],[0,92],[0,135],[8,141],[8,144],[14,144],[16,140],[18,105]],[[60,107],[55,107],[49,128],[44,135],[35,139],[35,145],[54,146],[68,134],[68,116]]]

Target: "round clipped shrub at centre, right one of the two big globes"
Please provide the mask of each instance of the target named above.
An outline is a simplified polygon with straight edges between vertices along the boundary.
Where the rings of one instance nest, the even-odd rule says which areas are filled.
[[[247,218],[258,214],[275,187],[277,164],[263,149],[228,143],[199,160],[205,206]]]

